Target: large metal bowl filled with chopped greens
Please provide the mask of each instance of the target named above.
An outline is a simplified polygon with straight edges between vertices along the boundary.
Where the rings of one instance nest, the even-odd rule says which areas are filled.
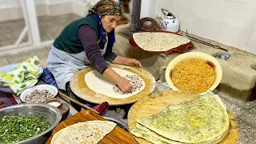
[[[45,103],[26,103],[0,110],[0,143],[45,143],[62,113]]]

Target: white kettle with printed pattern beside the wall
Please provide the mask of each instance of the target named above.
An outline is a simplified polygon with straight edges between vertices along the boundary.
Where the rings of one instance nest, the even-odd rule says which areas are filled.
[[[162,18],[160,22],[160,30],[166,30],[173,33],[177,33],[179,30],[178,18],[171,14],[169,10],[162,10]]]

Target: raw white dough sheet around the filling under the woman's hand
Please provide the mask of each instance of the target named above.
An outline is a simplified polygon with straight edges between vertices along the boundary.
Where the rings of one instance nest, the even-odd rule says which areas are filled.
[[[116,73],[118,73],[121,77],[126,77],[126,75],[136,75],[130,71],[122,70],[119,68],[112,68]],[[140,78],[138,76],[140,80]],[[142,87],[139,90],[135,90],[132,94],[117,94],[114,92],[113,87],[116,85],[114,82],[111,82],[109,79],[99,74],[96,70],[91,70],[89,73],[85,75],[86,85],[94,90],[98,94],[104,94],[110,98],[129,98],[134,94],[138,94],[141,90],[145,88],[145,82],[142,80]]]

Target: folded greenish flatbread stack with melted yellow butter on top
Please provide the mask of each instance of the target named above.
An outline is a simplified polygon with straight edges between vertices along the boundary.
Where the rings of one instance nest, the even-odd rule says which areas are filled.
[[[217,143],[226,136],[230,119],[218,95],[206,94],[138,119],[131,131],[153,143]]]

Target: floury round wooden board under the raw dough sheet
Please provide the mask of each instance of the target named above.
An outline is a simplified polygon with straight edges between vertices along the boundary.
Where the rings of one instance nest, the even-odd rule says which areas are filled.
[[[97,103],[97,104],[102,102],[109,102],[110,106],[118,106],[118,105],[126,105],[130,103],[134,103],[134,102],[137,102],[139,99],[153,92],[155,88],[155,79],[153,75],[150,74],[148,71],[136,66],[122,66],[122,65],[111,64],[110,67],[127,70],[134,74],[137,74],[145,82],[145,85],[146,85],[145,88],[142,91],[140,91],[138,94],[134,94],[129,98],[110,98],[104,94],[98,94],[94,90],[90,90],[90,88],[86,85],[85,75],[91,70],[94,70],[94,68],[88,67],[84,70],[78,71],[77,74],[74,74],[73,78],[70,81],[71,90],[79,98],[82,98],[88,102]]]

